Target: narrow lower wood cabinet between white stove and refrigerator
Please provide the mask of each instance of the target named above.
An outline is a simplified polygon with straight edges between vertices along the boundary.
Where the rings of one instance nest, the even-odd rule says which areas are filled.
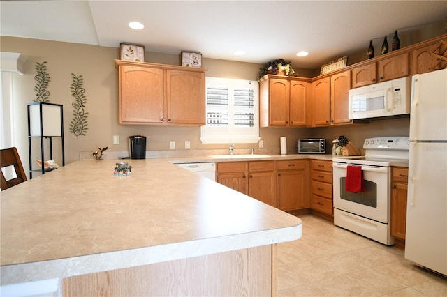
[[[397,239],[405,240],[406,192],[408,190],[408,168],[393,167],[391,179],[390,233]]]

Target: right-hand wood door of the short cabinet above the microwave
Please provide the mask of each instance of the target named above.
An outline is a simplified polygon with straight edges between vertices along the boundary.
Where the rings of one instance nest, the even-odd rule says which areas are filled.
[[[386,82],[390,79],[406,77],[409,73],[408,52],[377,62],[378,82]]]

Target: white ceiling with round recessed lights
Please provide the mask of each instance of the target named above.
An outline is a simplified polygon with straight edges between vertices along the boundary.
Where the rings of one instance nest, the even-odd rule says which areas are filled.
[[[252,63],[285,59],[297,68],[366,51],[370,39],[379,47],[385,35],[390,44],[395,29],[447,19],[447,1],[1,1],[0,10],[2,36],[103,47],[124,42]],[[131,21],[145,29],[129,29]],[[295,56],[300,50],[309,56]]]

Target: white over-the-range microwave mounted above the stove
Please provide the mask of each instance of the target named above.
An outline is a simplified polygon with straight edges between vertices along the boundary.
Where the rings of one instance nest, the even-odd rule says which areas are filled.
[[[349,119],[410,113],[411,79],[402,77],[349,90]]]

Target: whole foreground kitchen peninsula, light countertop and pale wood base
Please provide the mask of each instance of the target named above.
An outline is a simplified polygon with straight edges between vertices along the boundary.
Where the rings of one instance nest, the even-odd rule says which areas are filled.
[[[299,218],[166,160],[122,177],[115,162],[1,192],[2,294],[45,280],[62,296],[277,294],[274,244],[300,238]]]

